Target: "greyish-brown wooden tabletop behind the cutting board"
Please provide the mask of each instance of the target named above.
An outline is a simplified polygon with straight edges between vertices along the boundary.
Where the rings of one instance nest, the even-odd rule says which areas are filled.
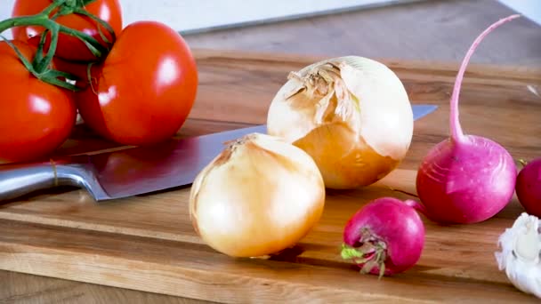
[[[517,0],[521,1],[521,0]],[[516,13],[494,0],[429,0],[186,36],[193,47],[458,61],[490,23]],[[541,67],[541,27],[513,20],[472,62]]]

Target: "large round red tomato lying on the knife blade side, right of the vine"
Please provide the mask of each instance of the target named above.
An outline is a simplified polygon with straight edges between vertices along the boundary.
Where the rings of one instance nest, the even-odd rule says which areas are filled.
[[[198,71],[174,29],[153,21],[127,26],[92,86],[77,92],[85,123],[109,140],[147,145],[174,136],[193,106]]]

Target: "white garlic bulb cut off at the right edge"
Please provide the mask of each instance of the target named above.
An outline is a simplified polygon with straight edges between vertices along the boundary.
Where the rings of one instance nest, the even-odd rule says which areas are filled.
[[[512,228],[506,228],[499,237],[501,252],[496,252],[500,270],[513,285],[529,294],[541,298],[541,227],[539,219],[522,213]]]

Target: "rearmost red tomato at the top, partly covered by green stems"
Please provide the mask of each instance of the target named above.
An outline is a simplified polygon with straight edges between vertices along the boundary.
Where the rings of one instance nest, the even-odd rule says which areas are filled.
[[[12,16],[34,15],[42,12],[52,0],[16,0],[13,5]],[[94,16],[109,23],[111,28],[118,35],[122,30],[122,12],[118,0],[96,0],[86,5],[86,11]],[[101,39],[98,31],[97,22],[88,17],[78,14],[61,16],[56,19],[58,23],[68,28],[77,29],[96,38],[102,45],[107,46]],[[17,27],[12,28],[15,39],[26,41],[30,44],[39,44],[40,35],[44,28],[41,27]],[[111,41],[109,32],[101,27],[101,32]],[[65,60],[89,61],[95,60],[92,52],[88,50],[85,44],[76,37],[61,34],[57,45],[56,56]]]

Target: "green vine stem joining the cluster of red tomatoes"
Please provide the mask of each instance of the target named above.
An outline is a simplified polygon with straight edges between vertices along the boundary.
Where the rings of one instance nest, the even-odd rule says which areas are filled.
[[[60,77],[63,77],[75,80],[77,79],[76,76],[72,76],[69,73],[61,72],[50,68],[52,58],[56,53],[60,33],[74,36],[80,41],[82,41],[90,50],[90,52],[93,53],[93,56],[95,56],[97,60],[101,60],[101,58],[106,56],[109,53],[109,49],[103,46],[93,36],[75,30],[73,28],[63,26],[57,23],[55,20],[60,16],[72,13],[81,14],[85,17],[91,18],[98,23],[97,28],[100,32],[101,39],[106,44],[110,45],[116,39],[115,31],[109,26],[107,22],[101,20],[100,18],[94,16],[93,14],[85,10],[85,5],[91,4],[93,1],[95,0],[53,0],[52,4],[47,6],[42,12],[39,12],[36,15],[20,16],[0,21],[0,34],[2,34],[8,28],[15,28],[20,26],[38,26],[45,28],[44,32],[42,33],[40,42],[37,46],[36,55],[32,59],[31,63],[19,52],[19,50],[14,44],[7,41],[4,36],[0,35],[0,37],[12,47],[12,49],[19,56],[25,68],[27,68],[28,71],[32,73],[32,75],[36,76],[36,78],[48,84],[53,84],[72,91],[77,91],[77,87],[75,85],[69,84],[68,82],[59,79]],[[54,12],[54,14],[51,16],[52,12]],[[112,37],[112,42],[109,41],[109,39],[105,35],[103,35],[103,33],[101,32],[101,27],[106,28],[109,31],[109,34]],[[46,38],[48,36],[50,36],[51,42],[49,44],[47,53],[44,55],[44,44],[46,43]]]

